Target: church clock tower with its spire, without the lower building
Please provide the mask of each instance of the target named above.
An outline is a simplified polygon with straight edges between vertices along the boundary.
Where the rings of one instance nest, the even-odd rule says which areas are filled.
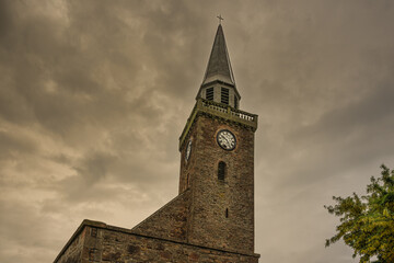
[[[239,110],[240,100],[219,24],[179,138],[179,194],[190,191],[187,242],[253,253],[257,115]]]

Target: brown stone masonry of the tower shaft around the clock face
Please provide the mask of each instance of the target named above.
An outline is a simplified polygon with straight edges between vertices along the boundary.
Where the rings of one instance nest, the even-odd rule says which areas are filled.
[[[221,129],[235,135],[234,150],[227,151],[218,146],[216,137]],[[182,161],[181,165],[181,183],[186,174],[190,180],[188,242],[253,253],[254,132],[221,118],[200,115],[190,128],[190,138],[194,148],[189,161]],[[181,152],[184,156],[185,149]],[[218,180],[219,161],[227,164],[224,181]]]

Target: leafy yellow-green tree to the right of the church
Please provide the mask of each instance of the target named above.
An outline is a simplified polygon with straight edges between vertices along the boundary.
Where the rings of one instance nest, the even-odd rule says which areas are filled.
[[[356,193],[346,198],[333,197],[334,206],[324,206],[329,214],[340,217],[336,235],[326,240],[326,247],[343,239],[354,249],[354,258],[360,263],[394,262],[394,170],[381,165],[381,176],[371,178],[367,195]]]

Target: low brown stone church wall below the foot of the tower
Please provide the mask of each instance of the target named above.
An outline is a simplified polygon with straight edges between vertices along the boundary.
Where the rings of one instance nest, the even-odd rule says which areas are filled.
[[[68,261],[63,253],[60,262],[103,263],[257,263],[258,254],[240,254],[224,250],[192,245],[183,242],[132,233],[131,230],[107,226],[102,222],[84,221],[81,226],[85,236],[80,261]],[[89,235],[93,232],[94,235]],[[66,248],[66,251],[68,248]]]

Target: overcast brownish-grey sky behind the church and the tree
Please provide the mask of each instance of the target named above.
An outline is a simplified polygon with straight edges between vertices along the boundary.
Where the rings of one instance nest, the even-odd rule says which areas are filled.
[[[260,262],[348,263],[333,195],[394,168],[391,0],[0,0],[0,262],[53,262],[85,218],[177,194],[218,26],[255,147]]]

